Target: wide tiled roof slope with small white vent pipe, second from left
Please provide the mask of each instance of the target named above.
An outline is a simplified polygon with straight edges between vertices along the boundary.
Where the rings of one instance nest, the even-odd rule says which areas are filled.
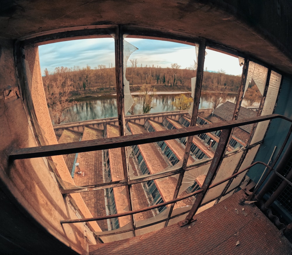
[[[82,141],[102,138],[102,131],[86,127],[82,136]],[[74,183],[77,186],[103,183],[102,174],[102,151],[82,152],[78,154],[77,162],[84,176],[74,173]],[[93,217],[106,215],[105,195],[103,190],[81,192],[81,197],[88,207]],[[107,230],[107,221],[97,221],[100,228]]]

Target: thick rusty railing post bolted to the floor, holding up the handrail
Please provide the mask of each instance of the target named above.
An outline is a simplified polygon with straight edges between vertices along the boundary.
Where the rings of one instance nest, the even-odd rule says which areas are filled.
[[[224,153],[225,153],[228,141],[229,141],[230,134],[231,134],[231,129],[224,129],[222,131],[217,149],[216,149],[215,154],[214,154],[214,158],[212,160],[211,166],[210,166],[208,173],[206,175],[205,181],[201,187],[201,189],[203,189],[204,192],[199,193],[196,196],[196,200],[195,200],[194,205],[192,206],[192,209],[190,210],[189,214],[187,215],[185,220],[179,222],[180,226],[184,226],[186,224],[189,224],[192,221],[199,206],[201,205],[203,198],[206,195],[206,192],[208,191],[208,189],[211,185],[211,182],[213,181],[213,178],[215,177],[215,174],[217,173],[217,171],[221,165],[221,162],[223,160],[223,156],[224,156]]]

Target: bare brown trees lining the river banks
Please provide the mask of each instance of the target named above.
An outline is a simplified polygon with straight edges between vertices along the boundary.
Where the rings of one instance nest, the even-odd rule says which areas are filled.
[[[153,97],[155,86],[172,87],[174,90],[183,87],[190,89],[191,78],[196,76],[196,64],[189,68],[181,68],[177,63],[173,63],[171,67],[161,68],[154,65],[139,66],[137,59],[131,59],[130,63],[126,68],[126,79],[130,87],[138,85],[138,89],[140,88],[138,91],[142,96],[144,94],[143,113],[150,110],[150,98]],[[64,121],[65,117],[62,117],[62,113],[75,104],[74,101],[68,100],[72,92],[78,92],[79,96],[82,96],[87,92],[94,93],[96,89],[116,88],[115,67],[112,64],[98,65],[93,69],[88,65],[84,68],[61,66],[56,67],[51,73],[46,68],[42,78],[51,119],[55,124]],[[205,71],[202,92],[210,93],[211,103],[215,109],[224,102],[226,93],[238,92],[240,82],[241,76],[228,75],[222,69],[218,72]],[[260,100],[260,95],[255,90],[257,87],[252,88],[253,85],[246,92],[246,97],[250,97],[247,99],[250,105]],[[149,97],[150,94],[152,96]],[[185,109],[185,105],[190,105],[190,99],[180,97],[177,100],[179,102],[175,105],[177,109]]]

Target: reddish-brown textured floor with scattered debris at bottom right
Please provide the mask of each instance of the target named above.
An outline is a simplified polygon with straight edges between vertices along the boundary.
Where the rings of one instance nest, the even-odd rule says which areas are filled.
[[[291,243],[269,219],[253,204],[240,205],[241,199],[246,196],[239,191],[196,214],[190,225],[92,245],[89,254],[292,254]]]

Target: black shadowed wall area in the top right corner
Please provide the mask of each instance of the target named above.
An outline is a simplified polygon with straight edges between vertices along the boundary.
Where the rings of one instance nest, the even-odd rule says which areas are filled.
[[[292,59],[292,2],[289,0],[211,1],[262,34]]]

